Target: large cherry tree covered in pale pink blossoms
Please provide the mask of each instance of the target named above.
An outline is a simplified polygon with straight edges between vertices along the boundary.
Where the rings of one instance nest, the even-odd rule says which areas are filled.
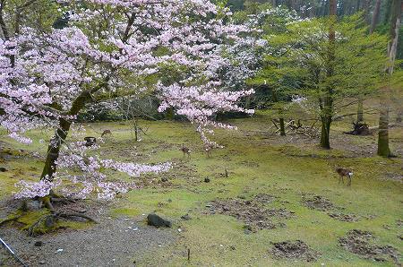
[[[161,99],[160,111],[175,108],[197,125],[203,142],[214,145],[206,136],[211,127],[232,128],[212,121],[215,113],[253,113],[236,104],[253,90],[227,90],[219,75],[232,64],[225,51],[247,31],[230,19],[224,22],[231,15],[225,8],[201,0],[0,4],[1,125],[24,143],[35,142],[27,131],[55,129],[39,182],[21,181],[16,198],[40,197],[51,210],[56,191],[75,198],[97,192],[111,199],[136,185],[107,182],[103,169],[138,177],[171,167],[89,156],[97,145],[68,139],[83,108],[153,91]],[[30,8],[47,14],[47,22]],[[56,17],[67,23],[52,27],[49,20]]]

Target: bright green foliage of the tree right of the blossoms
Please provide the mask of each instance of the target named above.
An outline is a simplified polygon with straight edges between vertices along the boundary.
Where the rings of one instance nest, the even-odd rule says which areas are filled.
[[[327,75],[329,20],[314,19],[288,24],[287,30],[267,36],[272,50],[251,83],[264,81],[283,96],[302,94],[319,100],[332,87],[335,111],[345,107],[346,103],[338,105],[342,99],[376,93],[387,64],[386,37],[378,33],[368,36],[361,14],[343,18],[335,30],[333,75]]]

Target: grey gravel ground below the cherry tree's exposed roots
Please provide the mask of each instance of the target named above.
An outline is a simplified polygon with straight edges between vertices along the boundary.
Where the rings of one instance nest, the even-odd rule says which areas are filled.
[[[173,230],[152,228],[128,219],[99,219],[81,230],[65,229],[27,237],[15,228],[0,228],[0,237],[29,266],[135,266],[135,257],[175,240]],[[42,242],[36,246],[35,243]],[[63,251],[61,251],[63,250]],[[137,261],[138,262],[138,261]],[[19,266],[0,248],[0,266]]]

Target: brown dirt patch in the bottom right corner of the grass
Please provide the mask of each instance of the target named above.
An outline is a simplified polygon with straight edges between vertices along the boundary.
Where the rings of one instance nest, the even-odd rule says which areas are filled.
[[[399,265],[399,253],[391,245],[377,245],[373,234],[368,231],[353,229],[346,237],[339,237],[339,243],[347,251],[358,254],[366,259],[373,259],[377,262],[386,262],[390,257]]]

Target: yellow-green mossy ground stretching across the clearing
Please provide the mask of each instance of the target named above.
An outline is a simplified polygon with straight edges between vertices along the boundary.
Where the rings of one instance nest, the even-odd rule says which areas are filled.
[[[263,115],[232,121],[239,126],[239,131],[217,131],[214,139],[225,148],[213,151],[211,158],[202,153],[198,135],[187,123],[141,121],[142,127],[149,127],[141,142],[134,142],[128,125],[122,123],[99,123],[87,127],[87,134],[94,136],[99,136],[105,129],[112,131],[112,136],[101,144],[102,157],[174,163],[167,174],[140,178],[144,187],[117,199],[110,211],[110,216],[134,219],[156,211],[173,220],[173,231],[180,238],[176,243],[159,247],[149,254],[133,255],[139,265],[393,265],[391,260],[375,263],[351,254],[339,245],[338,240],[350,229],[368,230],[373,232],[380,245],[392,245],[403,254],[402,241],[398,237],[402,228],[397,225],[398,220],[403,220],[402,159],[363,156],[355,154],[354,150],[344,150],[343,146],[323,151],[312,142],[294,142],[289,136],[265,133],[269,122],[269,118]],[[346,123],[337,122],[331,136],[339,138],[347,127]],[[40,136],[39,133],[33,135]],[[401,146],[401,128],[393,129],[390,135],[392,148]],[[48,139],[48,135],[44,139]],[[13,149],[22,148],[9,140],[4,142]],[[376,142],[376,136],[352,136],[348,137],[346,147],[354,147],[357,143],[369,146],[373,142]],[[193,151],[191,159],[183,159],[179,151],[183,143]],[[28,153],[44,153],[36,145],[22,149]],[[2,162],[8,171],[0,173],[0,193],[10,195],[13,184],[22,177],[37,179],[41,160],[21,156]],[[351,187],[338,184],[334,166],[354,169]],[[223,175],[226,169],[228,177]],[[114,173],[112,178],[116,176]],[[168,182],[160,182],[161,177],[168,177]],[[204,183],[205,177],[210,177],[210,183]],[[278,196],[269,204],[270,208],[295,212],[296,216],[283,221],[285,228],[245,234],[242,221],[209,214],[206,208],[206,204],[217,198],[241,196],[251,199],[260,193]],[[303,194],[322,195],[335,206],[344,208],[342,212],[354,213],[363,219],[343,222],[330,218],[325,211],[310,210],[302,202]],[[180,219],[186,213],[192,220]],[[276,260],[270,254],[271,242],[296,239],[303,240],[321,254],[317,262]],[[187,261],[188,248],[191,250],[190,262]]]

